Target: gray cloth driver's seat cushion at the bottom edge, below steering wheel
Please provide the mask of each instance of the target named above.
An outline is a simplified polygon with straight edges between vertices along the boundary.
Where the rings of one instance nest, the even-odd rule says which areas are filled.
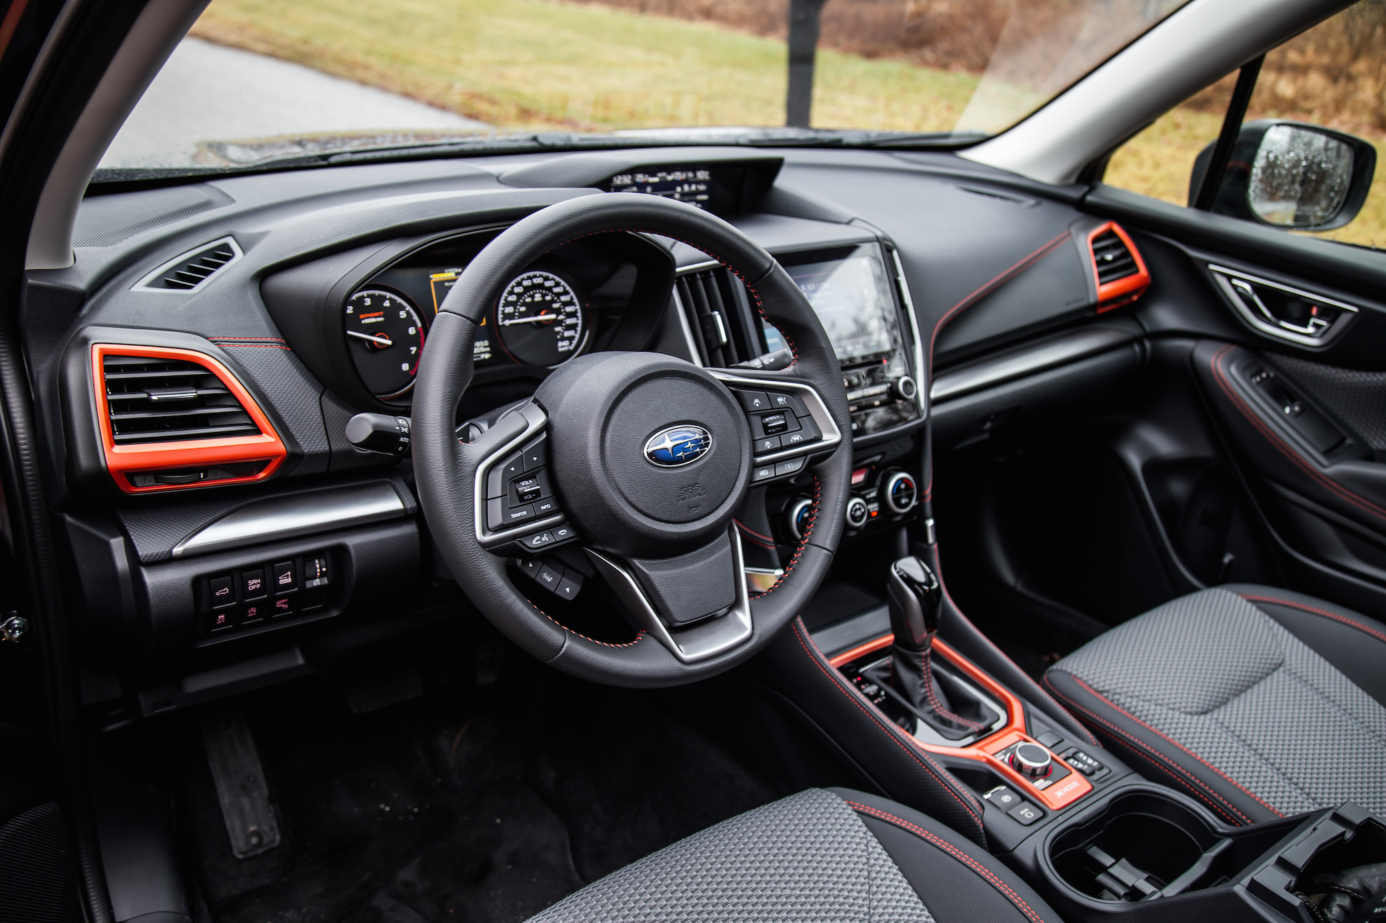
[[[809,789],[593,881],[531,923],[1060,923],[1005,865],[901,804]]]

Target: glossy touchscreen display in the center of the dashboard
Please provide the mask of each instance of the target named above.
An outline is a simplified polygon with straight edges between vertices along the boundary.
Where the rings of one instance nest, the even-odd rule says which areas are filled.
[[[898,348],[895,301],[876,247],[852,247],[814,262],[782,262],[790,263],[786,272],[814,306],[843,366]],[[773,327],[766,327],[765,337],[771,351],[783,345]]]

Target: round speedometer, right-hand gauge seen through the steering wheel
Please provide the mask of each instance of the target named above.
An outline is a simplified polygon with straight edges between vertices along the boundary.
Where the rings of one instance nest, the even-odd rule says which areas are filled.
[[[516,362],[556,366],[577,355],[584,333],[582,299],[561,276],[532,269],[500,292],[496,333]]]

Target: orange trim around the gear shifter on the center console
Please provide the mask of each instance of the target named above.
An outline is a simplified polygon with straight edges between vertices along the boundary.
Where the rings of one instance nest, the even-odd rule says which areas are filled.
[[[863,644],[858,644],[857,647],[852,647],[848,651],[837,654],[827,662],[832,664],[834,668],[837,668],[841,667],[843,664],[848,664],[857,660],[858,657],[865,657],[868,654],[875,654],[879,650],[884,650],[886,647],[890,647],[890,644],[894,640],[895,640],[894,635],[881,635],[880,638],[869,640]],[[983,690],[987,692],[987,694],[992,696],[994,698],[997,698],[997,701],[1005,705],[1006,725],[999,730],[991,733],[990,736],[983,737],[977,743],[969,744],[966,747],[940,747],[937,744],[926,744],[920,740],[916,740],[915,744],[918,747],[920,747],[922,750],[927,750],[929,753],[937,753],[945,757],[960,757],[963,759],[974,759],[977,762],[985,764],[992,772],[998,773],[1008,783],[1015,786],[1016,791],[1020,791],[1027,797],[1038,800],[1041,804],[1044,804],[1044,807],[1049,808],[1051,811],[1059,811],[1062,808],[1066,808],[1078,798],[1081,798],[1082,795],[1092,791],[1092,783],[1088,782],[1088,777],[1084,776],[1077,769],[1074,769],[1073,766],[1070,766],[1063,759],[1060,759],[1059,754],[1053,753],[1052,750],[1049,753],[1053,757],[1055,765],[1067,769],[1069,776],[1062,782],[1058,782],[1053,786],[1045,789],[1044,791],[1035,789],[1033,784],[1030,784],[1028,779],[1026,779],[1019,772],[1012,769],[1008,764],[998,759],[994,754],[998,754],[1006,747],[1020,743],[1023,740],[1044,747],[1044,744],[1041,744],[1038,740],[1026,733],[1024,704],[1019,698],[1016,698],[1016,696],[1009,689],[1006,689],[995,679],[984,674],[970,660],[967,660],[966,657],[955,651],[952,647],[938,640],[937,638],[934,639],[934,651],[942,654],[942,657],[949,664],[952,664],[962,672],[967,674],[969,679],[981,686]],[[1049,748],[1045,747],[1045,750]]]

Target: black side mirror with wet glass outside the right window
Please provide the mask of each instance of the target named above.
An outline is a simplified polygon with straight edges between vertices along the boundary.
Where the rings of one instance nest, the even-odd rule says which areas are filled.
[[[1191,205],[1216,144],[1193,161]],[[1211,211],[1271,227],[1342,227],[1357,218],[1375,173],[1376,148],[1360,137],[1300,122],[1247,122],[1232,144]]]

